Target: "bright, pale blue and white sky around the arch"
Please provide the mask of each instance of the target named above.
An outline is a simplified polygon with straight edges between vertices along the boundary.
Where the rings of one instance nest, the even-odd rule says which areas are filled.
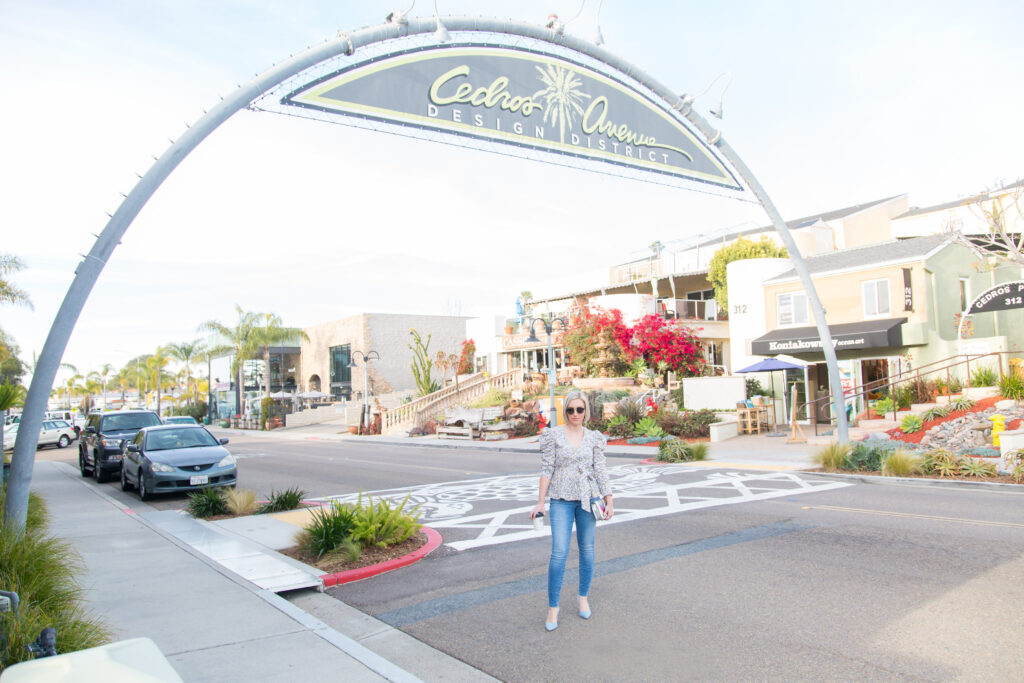
[[[0,308],[0,328],[23,358],[42,348],[106,214],[186,124],[290,54],[411,1],[0,0],[0,252],[27,264],[12,280],[34,303]],[[1024,175],[1021,3],[437,10],[535,24],[579,11],[566,32],[588,39],[599,23],[620,57],[679,93],[707,90],[700,113],[722,98],[716,125],[786,219],[903,194],[930,206]],[[419,0],[410,16],[433,13]],[[200,337],[204,321],[232,323],[236,305],[296,327],[359,312],[511,316],[519,292],[599,286],[656,240],[767,222],[750,201],[241,112],[141,211],[63,359],[83,374],[119,368]]]

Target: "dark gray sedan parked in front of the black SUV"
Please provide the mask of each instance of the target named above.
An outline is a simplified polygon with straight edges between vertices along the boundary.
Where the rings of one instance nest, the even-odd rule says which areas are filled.
[[[155,494],[233,486],[238,469],[225,443],[201,425],[146,427],[125,442],[121,489],[137,486],[145,501]]]

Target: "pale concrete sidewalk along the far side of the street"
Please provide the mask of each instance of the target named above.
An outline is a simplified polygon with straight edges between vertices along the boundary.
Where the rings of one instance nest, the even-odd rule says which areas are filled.
[[[271,431],[248,429],[224,429],[209,427],[218,436],[252,436],[282,440],[340,441],[346,443],[374,444],[384,446],[412,446],[420,449],[459,449],[492,453],[538,453],[536,436],[508,439],[504,441],[481,441],[466,439],[442,439],[427,436],[356,436],[349,434],[344,425],[319,424],[303,427],[289,427]],[[787,433],[779,436],[748,434],[709,443],[709,460],[696,463],[707,467],[730,467],[740,469],[782,469],[799,470],[815,467],[812,458],[820,449],[813,443],[787,443]],[[657,449],[647,445],[609,445],[605,455],[620,458],[654,458]],[[693,463],[691,463],[693,464]]]

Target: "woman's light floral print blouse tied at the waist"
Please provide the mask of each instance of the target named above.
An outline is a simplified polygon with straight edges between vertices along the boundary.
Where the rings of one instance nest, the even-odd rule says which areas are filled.
[[[548,495],[563,501],[587,501],[611,495],[604,467],[607,437],[584,429],[580,445],[569,443],[562,427],[541,430],[541,476],[551,479]]]

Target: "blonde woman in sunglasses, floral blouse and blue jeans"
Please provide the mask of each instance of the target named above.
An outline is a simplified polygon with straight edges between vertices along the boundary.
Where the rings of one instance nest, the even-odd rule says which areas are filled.
[[[604,469],[604,434],[586,429],[590,418],[587,399],[579,391],[565,396],[565,424],[541,432],[541,492],[529,518],[544,512],[544,499],[551,495],[551,559],[548,562],[548,618],[544,628],[558,628],[558,598],[565,575],[572,524],[580,549],[580,616],[590,618],[590,580],[594,574],[594,529],[597,519],[591,506],[604,499],[604,519],[611,519],[611,487]],[[600,509],[598,507],[598,509]]]

